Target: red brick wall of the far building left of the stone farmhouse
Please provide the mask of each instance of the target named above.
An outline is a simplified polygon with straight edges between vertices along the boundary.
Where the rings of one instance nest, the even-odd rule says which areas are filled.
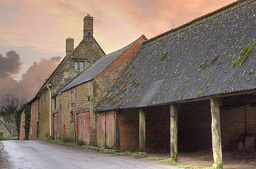
[[[31,110],[32,114],[30,117],[30,128],[29,128],[29,140],[33,140],[37,138],[37,122],[38,121],[38,113],[39,113],[39,98],[31,101]],[[32,128],[32,131],[31,131]]]

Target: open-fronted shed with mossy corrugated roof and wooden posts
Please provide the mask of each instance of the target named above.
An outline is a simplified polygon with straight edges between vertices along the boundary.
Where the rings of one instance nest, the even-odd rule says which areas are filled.
[[[237,1],[143,42],[95,109],[120,119],[112,126],[121,150],[177,160],[212,148],[222,168],[222,148],[255,138],[255,11],[255,1]]]

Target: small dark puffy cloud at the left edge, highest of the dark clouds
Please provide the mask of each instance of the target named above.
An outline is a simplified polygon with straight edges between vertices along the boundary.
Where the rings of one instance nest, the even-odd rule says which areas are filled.
[[[0,54],[0,77],[18,73],[21,66],[20,56],[15,51],[6,52],[6,57]]]

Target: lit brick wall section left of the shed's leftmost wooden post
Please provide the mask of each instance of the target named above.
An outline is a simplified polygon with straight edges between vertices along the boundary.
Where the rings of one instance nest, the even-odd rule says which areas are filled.
[[[139,150],[139,109],[120,112],[120,149]]]

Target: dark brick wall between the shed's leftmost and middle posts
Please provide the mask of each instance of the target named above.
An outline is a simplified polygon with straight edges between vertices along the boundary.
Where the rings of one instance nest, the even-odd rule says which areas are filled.
[[[146,116],[146,152],[170,151],[170,106],[143,109]]]

